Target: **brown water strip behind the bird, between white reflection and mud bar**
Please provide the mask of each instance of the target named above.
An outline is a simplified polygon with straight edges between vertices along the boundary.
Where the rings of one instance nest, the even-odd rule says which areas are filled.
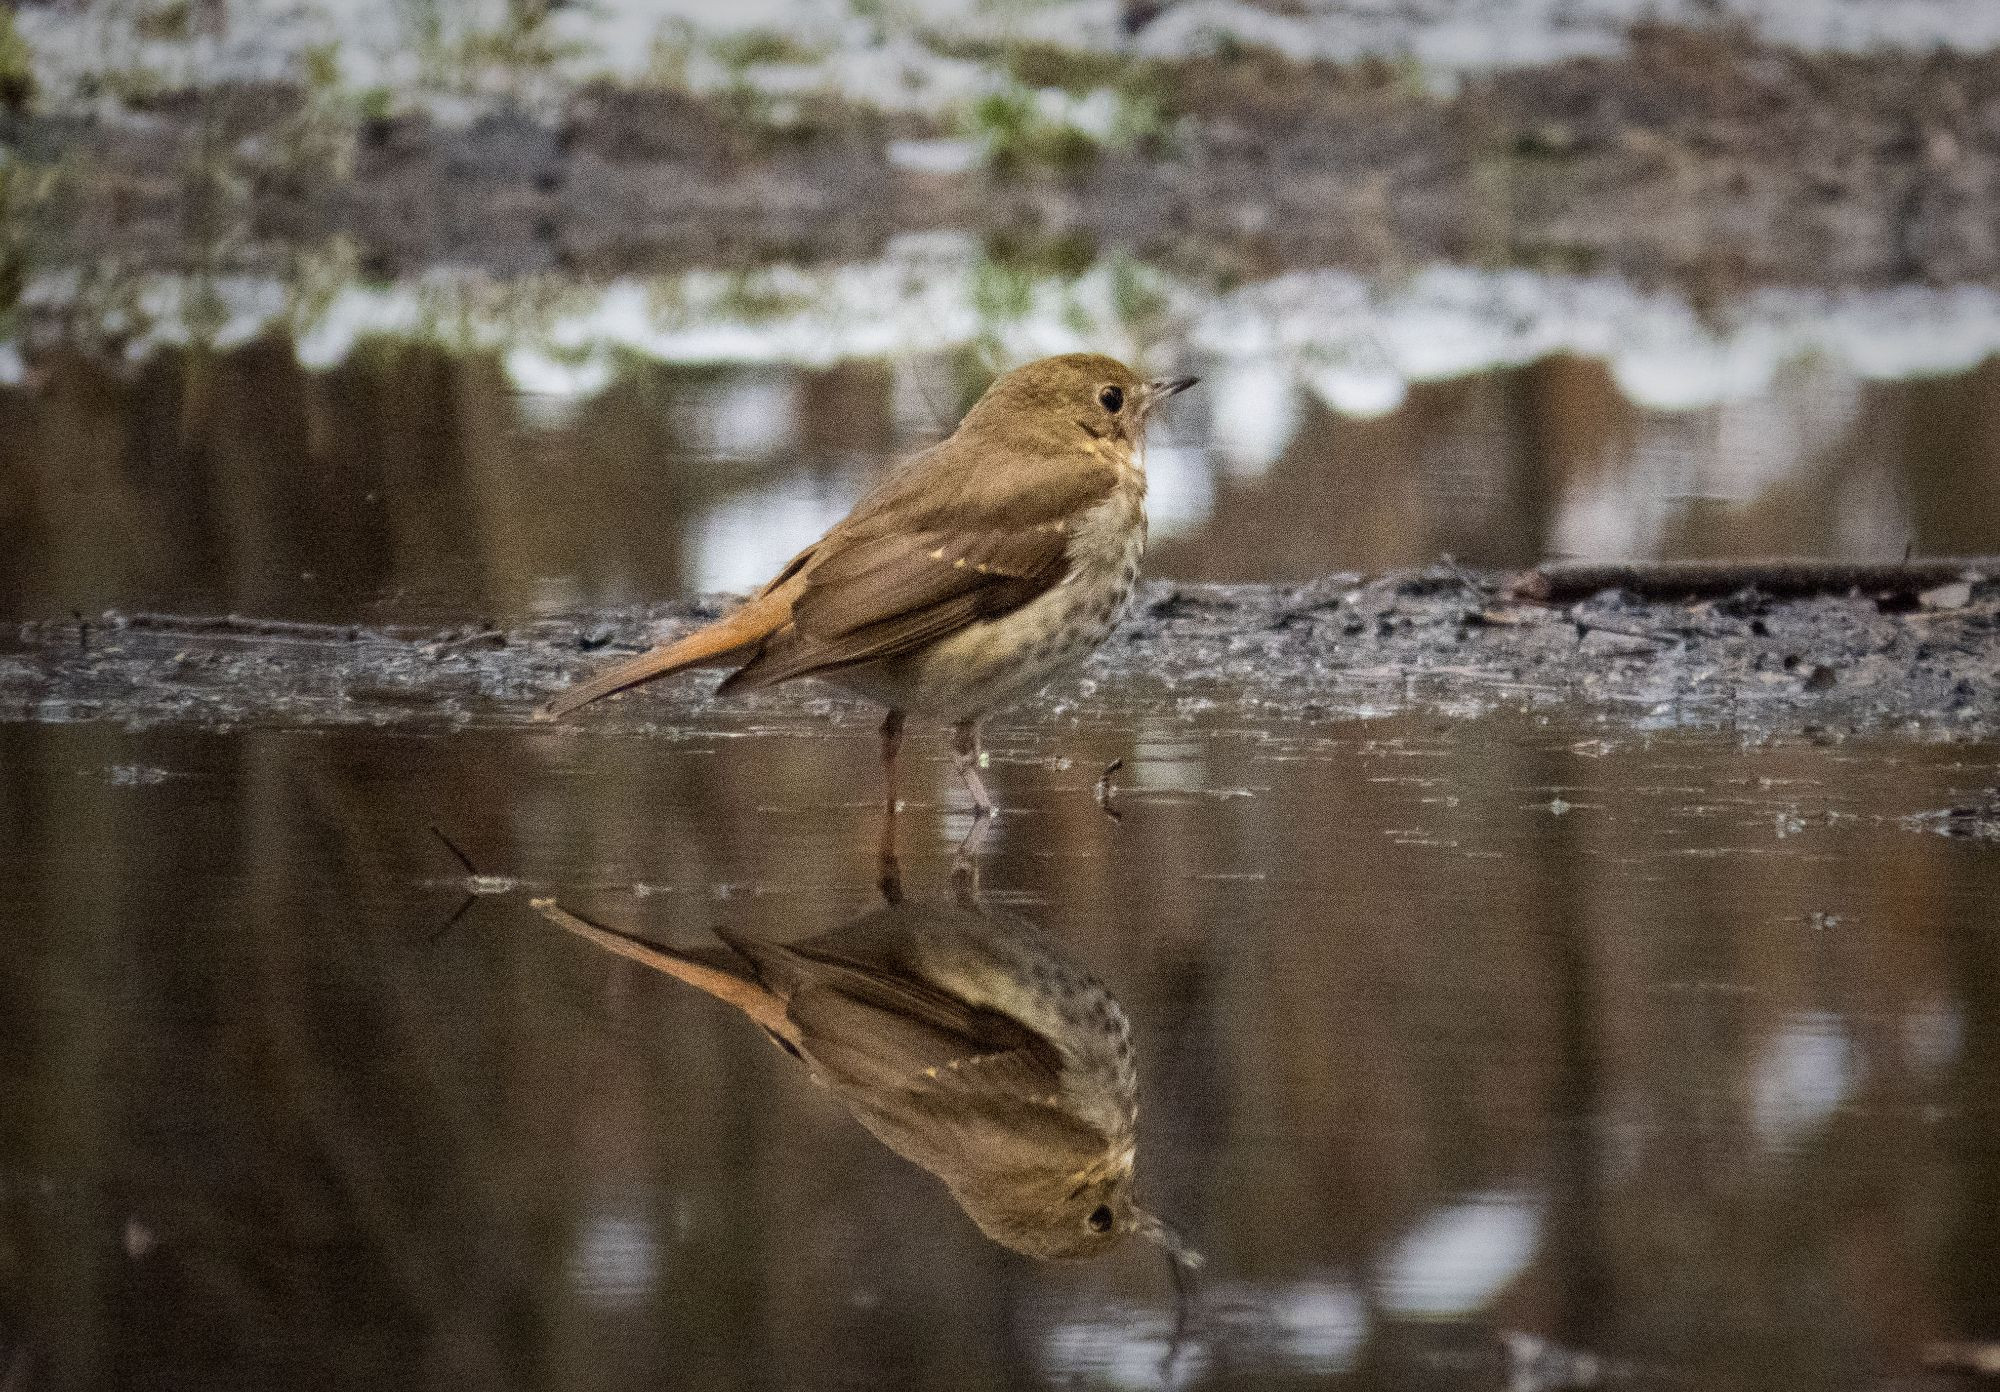
[[[1706,352],[1666,354],[1668,372],[1706,372]],[[1356,414],[1324,372],[1182,350],[1172,368],[1204,384],[1154,426],[1146,568],[1988,554],[1996,362],[1868,380],[1802,360],[1666,410],[1634,402],[1616,364],[1558,354],[1398,380],[1396,402]],[[626,360],[558,394],[520,390],[508,364],[366,340],[314,368],[282,336],[142,362],[52,350],[0,386],[0,614],[446,626],[742,592],[948,432],[992,372],[972,350]]]

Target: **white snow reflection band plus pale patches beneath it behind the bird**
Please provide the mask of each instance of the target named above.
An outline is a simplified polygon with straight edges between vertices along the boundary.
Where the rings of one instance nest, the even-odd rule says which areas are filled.
[[[1610,278],[1434,266],[1398,280],[1290,272],[1216,294],[1120,262],[1080,276],[994,266],[948,234],[904,238],[866,264],[608,286],[434,270],[314,294],[256,276],[108,286],[58,272],[32,280],[22,308],[18,340],[0,340],[0,380],[28,376],[40,346],[62,338],[144,360],[276,332],[294,338],[308,368],[340,364],[368,340],[422,342],[498,354],[522,416],[550,428],[574,420],[626,364],[732,366],[702,374],[708,386],[676,408],[676,432],[704,460],[736,466],[798,440],[796,370],[886,360],[902,450],[956,422],[974,362],[1096,348],[1210,380],[1150,446],[1160,540],[1198,532],[1232,486],[1296,448],[1314,400],[1384,416],[1424,382],[1592,358],[1640,410],[1596,462],[1564,476],[1540,540],[1568,556],[1670,552],[1690,504],[1742,506],[1800,484],[1840,490],[1826,528],[1850,538],[1852,554],[1894,554],[1908,504],[1894,480],[1842,462],[1864,430],[1866,382],[1960,372],[2000,354],[2000,292],[1978,286],[1758,290],[1698,314],[1674,294]],[[1492,472],[1482,464],[1474,476]],[[698,554],[730,556],[696,562],[702,588],[752,582],[838,516],[836,500],[798,486],[740,502],[746,510],[716,520],[720,530],[690,538]]]

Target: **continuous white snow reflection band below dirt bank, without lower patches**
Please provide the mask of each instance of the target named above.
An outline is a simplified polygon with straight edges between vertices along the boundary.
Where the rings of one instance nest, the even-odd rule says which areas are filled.
[[[28,286],[24,308],[78,326],[90,314],[86,298],[74,274],[58,272]],[[314,368],[344,360],[370,336],[422,338],[502,350],[522,390],[570,394],[602,388],[614,354],[830,366],[976,346],[1002,366],[1092,348],[1172,368],[1178,354],[1152,348],[1184,344],[1210,366],[1276,374],[1352,416],[1394,410],[1416,382],[1552,354],[1604,360],[1628,400],[1662,412],[1766,400],[1784,368],[1804,360],[1860,380],[1898,380],[1962,372],[2000,354],[2000,292],[1984,286],[1756,290],[1696,314],[1674,294],[1608,278],[1436,266],[1396,282],[1290,272],[1206,294],[1140,266],[1106,264],[1074,278],[996,270],[972,242],[946,234],[902,238],[866,264],[698,270],[602,288],[516,290],[428,272],[346,286],[312,308],[272,278],[154,276],[108,300],[102,318],[100,328],[130,334],[132,356],[248,342],[288,326]],[[1242,424],[1230,430],[1240,434]],[[1244,438],[1244,448],[1254,472],[1270,442]]]

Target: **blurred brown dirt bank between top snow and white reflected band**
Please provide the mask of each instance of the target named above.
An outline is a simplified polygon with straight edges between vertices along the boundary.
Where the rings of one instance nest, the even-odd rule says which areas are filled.
[[[2000,276],[2000,52],[1642,28],[1628,56],[1450,96],[1384,62],[988,58],[1022,92],[1116,90],[1144,118],[1096,140],[1004,104],[942,120],[600,84],[554,120],[448,128],[286,84],[144,92],[118,118],[0,120],[18,170],[54,172],[12,180],[12,240],[44,264],[274,268],[338,236],[376,274],[608,274],[966,228],[1028,256],[1124,248],[1222,276],[1430,260],[1698,288]],[[952,140],[970,168],[922,154]]]

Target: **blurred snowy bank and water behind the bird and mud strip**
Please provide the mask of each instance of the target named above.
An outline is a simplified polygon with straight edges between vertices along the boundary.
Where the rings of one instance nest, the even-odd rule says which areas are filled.
[[[1070,348],[1156,576],[2000,546],[1982,0],[0,24],[8,612],[740,590]]]

